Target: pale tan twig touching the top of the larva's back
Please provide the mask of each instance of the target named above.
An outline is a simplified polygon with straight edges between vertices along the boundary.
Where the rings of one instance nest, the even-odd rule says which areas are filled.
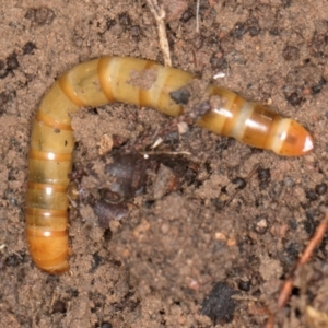
[[[156,20],[160,46],[164,57],[164,65],[172,66],[166,27],[164,23],[165,10],[159,5],[157,0],[147,0],[147,3]]]

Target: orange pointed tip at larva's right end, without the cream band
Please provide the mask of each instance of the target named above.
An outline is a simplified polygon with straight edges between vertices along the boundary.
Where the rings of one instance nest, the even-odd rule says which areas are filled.
[[[302,156],[311,152],[313,148],[314,141],[309,132],[291,119],[279,154],[284,156]]]

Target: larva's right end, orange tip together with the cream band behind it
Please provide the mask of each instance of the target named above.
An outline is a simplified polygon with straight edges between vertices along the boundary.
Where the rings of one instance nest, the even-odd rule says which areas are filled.
[[[313,138],[304,127],[293,119],[282,119],[278,128],[272,150],[284,156],[302,156],[314,148]]]

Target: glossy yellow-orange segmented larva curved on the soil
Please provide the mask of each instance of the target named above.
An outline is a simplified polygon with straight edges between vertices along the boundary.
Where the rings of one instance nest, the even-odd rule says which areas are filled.
[[[136,73],[148,71],[152,72],[150,85],[133,83]],[[183,107],[169,94],[192,79],[149,60],[104,57],[75,66],[55,82],[36,113],[28,155],[26,235],[38,268],[54,274],[69,269],[66,192],[74,147],[71,114],[85,106],[122,102],[178,116]],[[312,150],[312,137],[294,120],[220,86],[210,85],[208,92],[223,102],[203,115],[199,126],[281,155],[297,156]]]

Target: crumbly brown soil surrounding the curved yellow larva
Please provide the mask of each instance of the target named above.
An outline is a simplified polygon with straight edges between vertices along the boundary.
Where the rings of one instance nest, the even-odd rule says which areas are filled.
[[[328,173],[325,1],[202,0],[199,34],[196,1],[165,2],[173,65],[204,78],[224,72],[220,84],[306,126],[314,152],[279,157],[194,128],[178,148],[199,163],[197,185],[153,203],[137,197],[130,218],[110,230],[73,213],[72,274],[45,274],[32,263],[24,236],[37,104],[81,61],[104,55],[161,61],[162,55],[143,0],[0,1],[1,327],[214,327],[210,317],[216,327],[261,327],[261,308],[274,309],[279,286],[320,220],[327,192],[314,190]],[[166,119],[120,104],[83,110],[74,118],[77,163],[95,154],[104,133],[137,138]],[[254,174],[222,208],[236,178],[256,165],[271,179]],[[327,313],[326,243],[297,272],[277,327],[315,327],[306,324],[307,305]],[[214,285],[221,312],[207,303],[202,315]]]

